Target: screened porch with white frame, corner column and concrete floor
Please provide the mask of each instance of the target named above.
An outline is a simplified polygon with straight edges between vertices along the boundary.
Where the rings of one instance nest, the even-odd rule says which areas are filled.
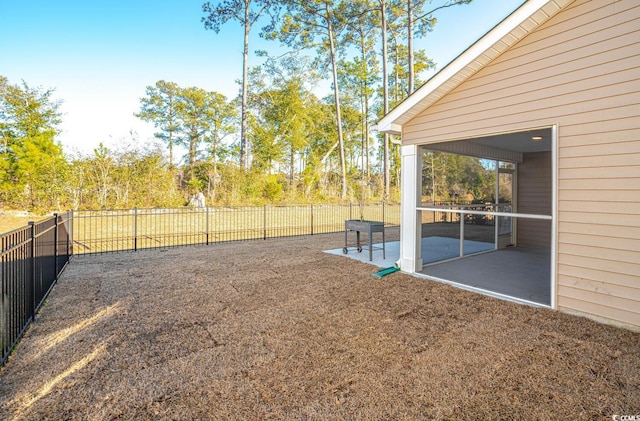
[[[552,306],[553,145],[554,130],[548,127],[403,146],[403,165],[414,167],[418,176],[403,179],[403,199],[416,199],[413,209],[403,201],[402,269]],[[434,201],[435,177],[429,171],[434,153],[479,159],[495,174],[492,197],[473,203]]]

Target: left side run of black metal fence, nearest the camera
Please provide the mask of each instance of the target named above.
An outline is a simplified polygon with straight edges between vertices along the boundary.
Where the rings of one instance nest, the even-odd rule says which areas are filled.
[[[0,363],[34,320],[73,254],[72,225],[69,211],[0,235]]]

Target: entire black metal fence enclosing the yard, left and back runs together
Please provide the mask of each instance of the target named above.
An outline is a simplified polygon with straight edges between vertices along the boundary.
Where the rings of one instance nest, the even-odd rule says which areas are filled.
[[[265,205],[68,211],[1,234],[3,364],[74,254],[136,251],[344,230],[345,219],[400,224],[400,205]]]

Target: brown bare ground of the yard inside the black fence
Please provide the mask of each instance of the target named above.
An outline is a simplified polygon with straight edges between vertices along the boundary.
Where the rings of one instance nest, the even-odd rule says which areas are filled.
[[[0,419],[611,419],[640,334],[376,269],[341,234],[82,256]]]

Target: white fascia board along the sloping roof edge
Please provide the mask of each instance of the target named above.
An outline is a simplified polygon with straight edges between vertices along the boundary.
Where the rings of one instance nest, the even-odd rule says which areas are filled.
[[[503,20],[486,35],[476,41],[467,50],[465,50],[462,54],[455,58],[451,63],[449,63],[441,71],[436,73],[418,90],[416,90],[413,94],[411,94],[404,101],[398,104],[398,106],[391,110],[386,116],[384,116],[378,122],[379,131],[381,133],[393,134],[397,134],[398,128],[400,129],[400,131],[402,131],[402,125],[404,123],[426,109],[431,104],[431,102],[435,102],[435,100],[438,99],[434,98],[433,101],[429,101],[429,95],[431,95],[434,91],[436,91],[438,88],[455,77],[458,73],[465,70],[465,68],[470,66],[480,56],[487,53],[493,45],[506,38],[509,34],[512,33],[512,31],[520,27],[527,19],[531,18],[533,14],[541,10],[549,3],[554,3],[556,9],[560,10],[564,5],[570,3],[571,1],[572,0],[529,0],[524,3],[505,20]],[[535,24],[528,31],[521,31],[519,36],[513,35],[512,41],[507,44],[513,45],[516,42],[513,40],[522,39],[537,26],[538,25]],[[495,58],[494,54],[491,53],[487,54],[487,56],[491,57],[491,59]],[[474,74],[477,70],[480,70],[480,68],[476,68],[475,70],[473,70],[473,68],[469,68],[471,72],[468,72],[469,76],[467,76],[467,78]],[[454,85],[458,86],[460,83],[461,81],[455,83]],[[453,88],[450,88],[447,91],[451,89]],[[418,107],[420,103],[423,103],[422,107]]]

